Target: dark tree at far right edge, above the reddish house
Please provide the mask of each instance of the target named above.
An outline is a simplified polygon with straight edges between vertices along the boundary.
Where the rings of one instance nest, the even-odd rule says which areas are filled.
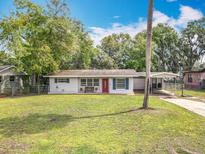
[[[205,55],[205,18],[189,22],[182,31],[179,54],[184,70],[187,71]]]

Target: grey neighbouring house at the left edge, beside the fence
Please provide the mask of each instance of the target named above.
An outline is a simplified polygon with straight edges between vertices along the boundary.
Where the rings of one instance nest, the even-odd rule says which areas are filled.
[[[0,66],[0,93],[8,94],[16,91],[20,91],[23,87],[22,76],[24,74],[17,73],[15,66],[3,65]]]

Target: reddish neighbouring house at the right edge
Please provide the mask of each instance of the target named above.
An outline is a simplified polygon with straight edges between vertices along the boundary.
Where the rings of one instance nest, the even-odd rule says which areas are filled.
[[[188,89],[205,88],[205,69],[184,72],[184,84]]]

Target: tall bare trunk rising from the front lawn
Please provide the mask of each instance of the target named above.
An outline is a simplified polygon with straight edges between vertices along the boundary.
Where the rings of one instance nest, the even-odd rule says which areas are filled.
[[[152,18],[153,18],[153,2],[149,0],[148,19],[147,19],[147,44],[146,44],[146,80],[143,108],[148,108],[149,92],[150,92],[150,68],[151,68],[151,48],[152,48]]]

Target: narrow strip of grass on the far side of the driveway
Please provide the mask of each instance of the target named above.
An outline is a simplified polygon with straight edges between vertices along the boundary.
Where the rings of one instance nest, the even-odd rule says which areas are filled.
[[[178,90],[175,93],[177,96],[181,96],[182,91]],[[205,99],[205,90],[184,90],[184,95]]]

